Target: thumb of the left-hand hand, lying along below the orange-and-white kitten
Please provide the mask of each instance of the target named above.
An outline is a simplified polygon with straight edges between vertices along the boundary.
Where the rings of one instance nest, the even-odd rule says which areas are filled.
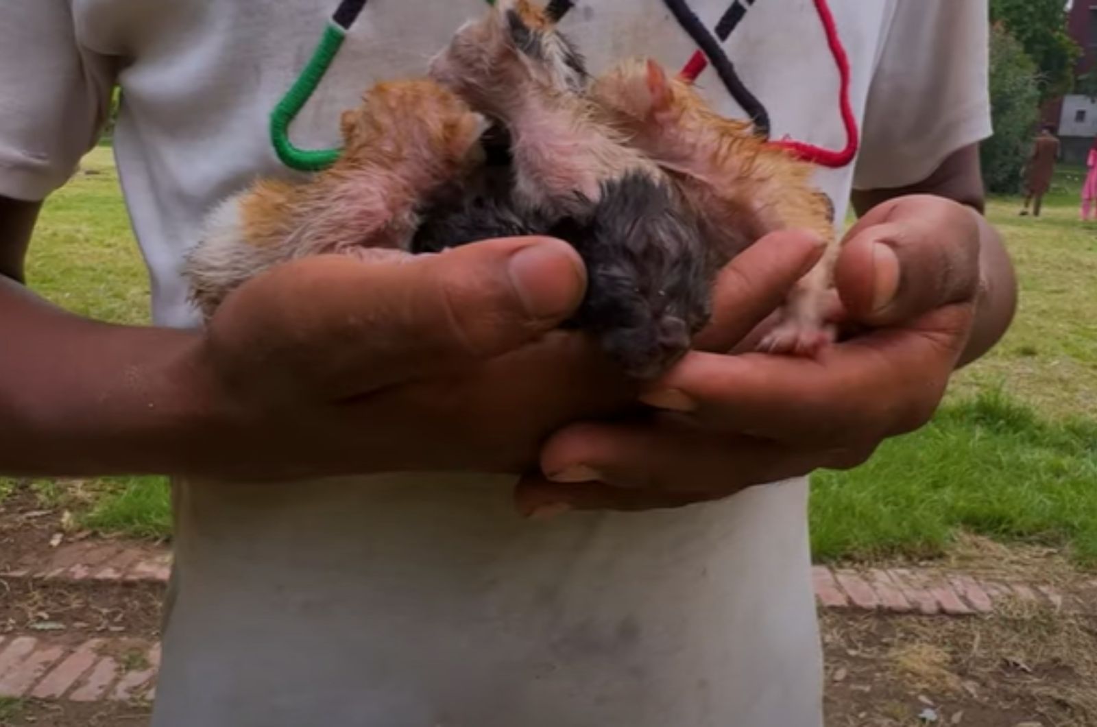
[[[342,398],[518,348],[569,317],[586,290],[583,260],[552,238],[369,253],[275,268],[225,301],[212,335],[237,335],[233,348],[256,368],[283,363],[298,385]]]

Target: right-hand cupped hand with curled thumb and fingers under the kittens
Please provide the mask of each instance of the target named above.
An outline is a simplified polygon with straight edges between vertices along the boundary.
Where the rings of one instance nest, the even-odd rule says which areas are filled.
[[[877,206],[850,231],[836,270],[840,323],[859,333],[816,359],[691,353],[642,394],[655,409],[648,417],[556,433],[542,450],[544,477],[519,485],[519,508],[676,506],[860,465],[885,437],[921,426],[938,406],[973,338],[977,303],[993,299],[980,266],[988,234],[975,211],[939,197]],[[717,318],[724,329],[704,338],[731,347],[768,313],[750,303],[780,298],[790,281],[766,271],[796,245],[794,235],[779,233],[733,260],[722,282],[746,290],[722,287],[717,305],[749,310],[753,321]],[[999,331],[979,335],[996,339],[1003,312],[984,317]]]

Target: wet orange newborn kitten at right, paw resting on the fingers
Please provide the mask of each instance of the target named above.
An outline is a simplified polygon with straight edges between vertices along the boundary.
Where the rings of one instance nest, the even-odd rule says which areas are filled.
[[[823,259],[790,293],[780,323],[760,347],[810,354],[824,345],[838,241],[834,206],[811,184],[813,166],[767,145],[749,124],[721,116],[651,60],[621,64],[591,85],[591,97],[603,119],[672,175],[717,262],[778,230],[810,230],[827,242]]]

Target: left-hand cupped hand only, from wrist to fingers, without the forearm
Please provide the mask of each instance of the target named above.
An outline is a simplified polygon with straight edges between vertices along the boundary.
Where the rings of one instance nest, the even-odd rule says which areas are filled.
[[[192,472],[535,466],[554,429],[635,402],[595,344],[555,331],[585,284],[576,253],[546,238],[275,268],[226,299],[193,357],[217,424]]]

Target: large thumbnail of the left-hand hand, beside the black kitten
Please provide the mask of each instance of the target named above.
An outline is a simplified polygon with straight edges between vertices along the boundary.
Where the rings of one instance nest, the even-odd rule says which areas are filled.
[[[546,239],[514,253],[507,267],[530,317],[556,318],[572,313],[583,300],[581,266],[567,243]]]

